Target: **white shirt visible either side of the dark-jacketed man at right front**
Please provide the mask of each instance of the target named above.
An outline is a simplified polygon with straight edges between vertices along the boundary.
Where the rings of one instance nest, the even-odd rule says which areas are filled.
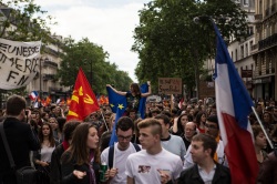
[[[186,151],[184,170],[194,165],[191,150],[192,150],[192,145],[189,145],[187,151]],[[218,157],[218,164],[223,164],[224,166],[228,166],[227,160],[225,159],[224,144],[223,144],[222,140],[219,140],[219,142],[217,144],[216,153],[217,153],[217,157]]]

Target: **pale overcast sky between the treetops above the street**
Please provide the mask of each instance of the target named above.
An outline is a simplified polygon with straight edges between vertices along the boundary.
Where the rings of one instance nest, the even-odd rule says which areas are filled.
[[[137,53],[131,51],[133,31],[138,25],[138,10],[151,0],[35,0],[55,18],[52,33],[75,41],[89,38],[110,54],[109,61],[126,71],[137,82],[134,69]]]

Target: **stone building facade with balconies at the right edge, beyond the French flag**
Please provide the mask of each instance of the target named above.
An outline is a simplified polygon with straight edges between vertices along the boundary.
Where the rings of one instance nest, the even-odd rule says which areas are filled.
[[[256,0],[255,7],[254,96],[276,100],[277,0]]]

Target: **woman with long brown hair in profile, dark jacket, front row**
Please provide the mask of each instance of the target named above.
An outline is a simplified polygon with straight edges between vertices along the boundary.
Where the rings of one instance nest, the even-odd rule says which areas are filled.
[[[61,157],[63,184],[96,184],[99,156],[98,130],[91,123],[76,126],[70,147]]]

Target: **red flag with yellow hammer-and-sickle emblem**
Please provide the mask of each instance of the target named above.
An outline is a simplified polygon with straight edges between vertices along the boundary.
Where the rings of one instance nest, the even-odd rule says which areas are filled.
[[[83,70],[80,68],[74,91],[71,96],[66,121],[73,119],[83,121],[89,114],[98,110],[98,100],[84,75]]]

